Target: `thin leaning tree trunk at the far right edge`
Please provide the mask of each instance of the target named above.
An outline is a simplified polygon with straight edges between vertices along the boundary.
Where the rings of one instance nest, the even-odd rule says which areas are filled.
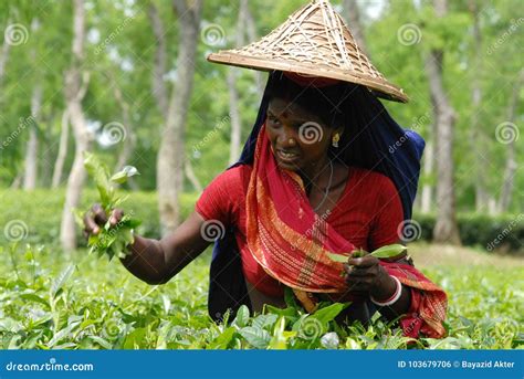
[[[516,154],[515,154],[515,140],[517,138],[517,126],[514,124],[515,115],[516,115],[516,106],[518,103],[518,94],[521,92],[522,84],[524,82],[524,70],[521,69],[517,80],[513,85],[513,92],[510,98],[510,106],[507,108],[507,130],[510,138],[507,138],[507,156],[506,156],[506,164],[504,169],[504,181],[501,188],[501,197],[499,199],[497,211],[499,212],[506,212],[511,204],[512,193],[513,193],[513,186],[515,173],[518,168],[516,162]],[[504,131],[505,133],[505,131]]]

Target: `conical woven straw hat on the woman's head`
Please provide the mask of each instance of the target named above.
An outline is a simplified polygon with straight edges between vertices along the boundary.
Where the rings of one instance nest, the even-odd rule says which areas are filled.
[[[298,9],[258,42],[212,53],[208,60],[361,84],[379,97],[408,102],[404,91],[369,62],[328,0],[315,0]]]

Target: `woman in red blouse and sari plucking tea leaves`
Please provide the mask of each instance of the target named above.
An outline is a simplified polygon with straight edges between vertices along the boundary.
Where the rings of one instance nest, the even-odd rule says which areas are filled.
[[[305,12],[317,29],[319,7],[328,3],[294,14],[302,28],[307,28]],[[265,67],[275,69],[274,62],[280,64],[269,61]],[[366,323],[378,310],[388,319],[402,316],[408,336],[442,337],[446,294],[406,254],[389,262],[350,257],[356,249],[371,251],[400,240],[399,225],[410,217],[418,178],[409,164],[418,165],[420,157],[409,154],[409,138],[396,156],[384,156],[386,133],[397,139],[404,133],[368,91],[384,91],[384,85],[354,76],[303,75],[310,72],[270,74],[240,161],[206,188],[196,211],[172,234],[160,241],[136,235],[123,263],[147,283],[166,283],[219,230],[209,295],[214,319],[240,304],[254,312],[264,304],[284,306],[284,288],[291,287],[310,312],[321,299],[350,301],[344,315],[349,320]],[[391,177],[400,179],[394,183]],[[86,232],[96,233],[107,217],[99,206],[91,213]],[[111,222],[116,224],[122,214],[115,210]],[[348,256],[347,264],[331,261],[327,253]]]

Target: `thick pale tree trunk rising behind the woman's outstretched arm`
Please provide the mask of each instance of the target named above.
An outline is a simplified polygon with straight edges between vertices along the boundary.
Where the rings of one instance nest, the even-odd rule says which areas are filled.
[[[157,188],[163,234],[172,232],[179,223],[178,197],[182,190],[186,120],[193,84],[201,3],[201,0],[195,0],[190,4],[185,0],[174,0],[180,33],[177,57],[178,82],[171,91],[157,158]]]

